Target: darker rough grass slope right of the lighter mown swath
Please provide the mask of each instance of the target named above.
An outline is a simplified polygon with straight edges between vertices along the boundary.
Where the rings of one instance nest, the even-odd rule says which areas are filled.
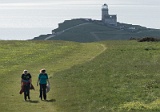
[[[160,43],[101,44],[94,60],[54,74],[57,112],[159,112]]]

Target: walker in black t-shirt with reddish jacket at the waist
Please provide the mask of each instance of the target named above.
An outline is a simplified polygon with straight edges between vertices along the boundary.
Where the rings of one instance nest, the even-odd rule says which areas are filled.
[[[30,88],[32,85],[32,79],[31,74],[28,73],[27,70],[23,71],[23,74],[21,75],[21,92],[24,92],[24,100],[28,99],[30,100]]]

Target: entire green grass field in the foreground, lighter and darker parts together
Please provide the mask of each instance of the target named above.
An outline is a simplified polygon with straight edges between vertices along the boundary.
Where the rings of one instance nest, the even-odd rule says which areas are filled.
[[[159,112],[160,43],[104,41],[0,41],[2,112]],[[37,76],[46,68],[48,101],[40,101]],[[36,90],[19,94],[24,69]]]

